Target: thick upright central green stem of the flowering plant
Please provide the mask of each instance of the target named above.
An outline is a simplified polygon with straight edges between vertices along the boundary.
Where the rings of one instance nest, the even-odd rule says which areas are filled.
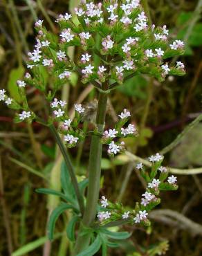
[[[107,88],[106,88],[107,89]],[[107,94],[101,93],[98,98],[98,111],[96,116],[96,126],[99,133],[104,131],[104,122],[107,111]],[[91,148],[89,155],[89,186],[87,192],[86,208],[82,225],[75,244],[75,255],[82,252],[89,245],[91,235],[81,235],[82,226],[90,228],[95,221],[96,208],[100,192],[100,173],[101,173],[102,143],[100,137],[93,135],[91,138]]]

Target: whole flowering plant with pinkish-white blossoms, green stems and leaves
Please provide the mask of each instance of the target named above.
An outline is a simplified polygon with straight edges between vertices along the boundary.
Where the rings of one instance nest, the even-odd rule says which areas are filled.
[[[128,210],[121,203],[109,202],[105,196],[98,204],[102,145],[107,145],[107,152],[113,156],[125,151],[121,138],[138,136],[136,127],[128,124],[131,114],[127,109],[120,113],[114,128],[104,129],[108,95],[137,74],[155,77],[160,82],[167,75],[184,75],[185,66],[182,62],[169,64],[169,58],[183,54],[184,44],[181,40],[169,42],[167,27],[152,25],[139,0],[111,0],[98,4],[82,0],[73,17],[68,13],[59,15],[56,22],[60,28],[59,35],[48,32],[42,20],[35,23],[35,49],[28,53],[27,62],[30,71],[25,74],[24,80],[17,81],[21,103],[9,98],[4,89],[0,91],[0,100],[19,111],[15,122],[31,123],[35,120],[49,127],[64,156],[66,169],[61,174],[63,192],[38,190],[60,196],[64,201],[50,215],[49,238],[53,239],[59,214],[71,209],[73,218],[68,224],[68,237],[73,241],[75,223],[80,223],[74,255],[94,255],[101,246],[102,255],[107,255],[107,246],[116,246],[113,239],[126,239],[130,235],[128,232],[111,232],[109,226],[123,223],[149,226],[148,213],[160,203],[160,190],[177,189],[176,177],[167,178],[168,170],[161,166],[163,156],[157,153],[149,158],[152,162],[151,171],[145,170],[142,163],[137,165],[147,182],[147,189],[133,210]],[[70,46],[82,49],[78,62],[68,56]],[[50,76],[51,84],[46,83],[44,72]],[[84,84],[91,83],[98,90],[93,131],[84,132],[80,128],[86,111],[82,104],[75,104],[75,117],[70,118],[66,102],[58,100],[56,96],[57,91],[66,86],[66,81],[75,72],[81,76]],[[30,109],[26,95],[28,86],[34,86],[44,94],[48,102],[48,116],[39,116]],[[86,136],[91,136],[89,179],[78,183],[66,147],[76,147]],[[96,215],[98,219],[95,219]]]

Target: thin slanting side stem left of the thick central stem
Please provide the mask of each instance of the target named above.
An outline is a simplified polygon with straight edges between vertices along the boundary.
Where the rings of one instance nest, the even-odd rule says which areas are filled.
[[[73,170],[73,165],[71,163],[71,159],[69,158],[69,156],[66,152],[66,148],[64,147],[64,144],[62,143],[62,140],[59,137],[59,134],[57,133],[57,130],[55,129],[55,126],[54,125],[48,125],[48,127],[50,128],[50,131],[52,131],[53,136],[55,137],[56,143],[57,143],[57,145],[58,145],[58,147],[59,147],[59,149],[62,153],[62,156],[64,157],[64,161],[66,163],[66,167],[68,169],[68,172],[71,176],[71,181],[73,183],[75,194],[77,196],[77,201],[80,205],[80,212],[82,214],[84,214],[84,200],[83,200],[82,194],[80,193],[80,189],[79,189],[79,186],[78,186],[78,183],[77,183],[77,178],[75,176],[75,172]]]

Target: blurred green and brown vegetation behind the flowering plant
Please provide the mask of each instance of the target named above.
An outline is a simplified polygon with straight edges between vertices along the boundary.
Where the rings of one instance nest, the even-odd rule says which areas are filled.
[[[123,108],[130,109],[131,120],[137,125],[140,136],[125,143],[130,152],[143,158],[169,145],[188,122],[199,116],[202,94],[202,1],[150,0],[148,3],[154,24],[167,24],[171,37],[185,40],[186,52],[180,60],[185,63],[187,75],[168,77],[163,84],[148,77],[134,77],[111,95],[107,126],[113,127],[116,113]],[[26,53],[33,48],[35,40],[35,20],[44,19],[46,27],[58,33],[54,22],[57,15],[73,10],[76,5],[73,0],[0,1],[1,89],[19,100],[15,81],[26,70]],[[78,58],[80,49],[71,48],[70,55]],[[50,82],[46,74],[44,77]],[[84,98],[86,104],[89,102],[91,118],[96,105],[94,95],[96,92],[74,74],[58,96],[68,101],[70,111],[75,101]],[[44,111],[44,99],[37,90],[28,89],[28,98],[34,111]],[[32,127],[17,125],[12,122],[13,111],[3,104],[0,109],[0,255],[10,255],[11,251],[15,251],[13,256],[69,255],[72,244],[66,238],[66,225],[70,214],[57,221],[57,235],[50,244],[46,238],[46,221],[59,199],[35,192],[42,187],[60,189],[62,158],[58,158],[54,140],[46,128],[35,123]],[[201,129],[201,125],[194,127],[180,145],[165,155],[167,165],[200,167]],[[88,154],[89,139],[71,150],[78,179],[84,179]],[[125,158],[109,159],[104,152],[102,170],[101,193],[111,201],[122,199],[122,203],[130,207],[140,199],[143,185]],[[163,194],[160,208],[181,212],[201,223],[201,183],[200,175],[178,176],[178,191]],[[121,249],[114,248],[109,255],[152,256],[164,251],[170,256],[202,255],[201,236],[194,236],[189,228],[172,218],[154,221],[147,232],[136,227],[126,226],[125,229],[134,232],[131,241],[122,242]]]

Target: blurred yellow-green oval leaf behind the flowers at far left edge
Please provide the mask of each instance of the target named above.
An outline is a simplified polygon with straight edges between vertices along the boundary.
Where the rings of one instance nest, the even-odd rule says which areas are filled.
[[[11,98],[14,98],[17,102],[21,102],[21,96],[19,95],[17,80],[21,80],[24,75],[24,66],[19,66],[18,68],[13,68],[10,71],[8,77],[8,91]]]

